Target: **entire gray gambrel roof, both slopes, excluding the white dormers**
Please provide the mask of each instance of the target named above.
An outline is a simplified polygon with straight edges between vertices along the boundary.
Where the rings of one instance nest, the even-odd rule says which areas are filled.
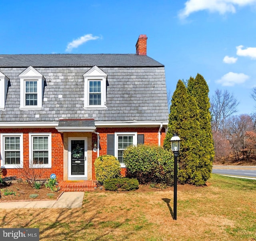
[[[8,61],[5,57],[0,58],[0,71],[10,79],[10,86],[6,98],[6,109],[0,111],[1,122],[59,121],[59,119],[168,121],[164,66],[147,56],[92,55],[90,59],[90,55],[85,55],[84,61],[90,66],[82,67],[79,66],[82,64],[82,55],[54,55],[60,57],[60,63],[55,62],[55,64],[52,59],[53,55],[0,55],[2,56],[8,56]],[[23,56],[24,60],[22,60]],[[61,61],[62,56],[65,61]],[[112,61],[103,63],[102,56],[105,57],[104,61],[106,59],[112,59]],[[118,60],[114,58],[115,56],[122,59],[118,66],[116,66]],[[95,62],[94,58],[96,58]],[[4,64],[3,59],[5,59]],[[74,65],[73,67],[65,67],[65,64],[68,65],[68,59],[70,65]],[[130,59],[127,65],[125,65],[126,59]],[[13,64],[11,64],[12,61]],[[138,66],[130,66],[135,63]],[[149,63],[152,66],[148,66]],[[44,66],[47,64],[50,66]],[[105,67],[100,67],[101,64]],[[26,67],[31,65],[46,79],[42,109],[20,109],[20,78],[18,75],[26,67],[18,65],[26,65]],[[37,67],[38,65],[42,66]],[[100,67],[108,76],[106,109],[84,109],[83,74],[94,65]]]

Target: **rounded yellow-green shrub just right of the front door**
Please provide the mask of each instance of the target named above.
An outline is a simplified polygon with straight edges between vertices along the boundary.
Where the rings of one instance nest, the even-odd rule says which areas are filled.
[[[111,155],[103,155],[96,158],[94,162],[96,180],[102,185],[108,178],[121,177],[120,163],[116,157]]]

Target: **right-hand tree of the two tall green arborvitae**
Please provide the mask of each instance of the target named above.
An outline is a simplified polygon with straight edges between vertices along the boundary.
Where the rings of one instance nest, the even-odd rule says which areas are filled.
[[[199,108],[199,124],[201,135],[198,136],[202,149],[200,163],[202,168],[202,176],[205,181],[210,178],[212,172],[212,162],[214,159],[214,142],[212,138],[210,99],[208,97],[209,88],[200,74],[196,78],[190,77],[188,80],[188,93],[194,97]]]

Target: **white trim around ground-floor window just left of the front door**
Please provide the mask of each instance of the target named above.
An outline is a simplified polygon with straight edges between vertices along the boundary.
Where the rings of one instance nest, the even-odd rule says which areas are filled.
[[[52,133],[29,133],[29,166],[30,168],[52,168]],[[33,137],[48,136],[48,164],[33,164]]]

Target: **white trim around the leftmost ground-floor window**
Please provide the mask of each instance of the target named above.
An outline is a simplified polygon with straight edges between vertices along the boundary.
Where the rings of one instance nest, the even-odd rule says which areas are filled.
[[[4,164],[4,137],[20,137],[20,164]],[[23,133],[1,133],[0,134],[1,148],[1,168],[23,168]]]

